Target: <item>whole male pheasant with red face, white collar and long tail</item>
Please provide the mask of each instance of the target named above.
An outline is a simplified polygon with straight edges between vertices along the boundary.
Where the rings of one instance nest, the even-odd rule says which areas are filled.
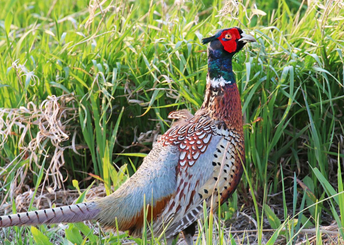
[[[145,201],[148,222],[151,217],[153,221],[148,237],[153,235],[150,232],[155,237],[164,232],[170,244],[182,232],[192,245],[204,200],[208,211],[216,209],[232,195],[243,173],[241,101],[232,58],[248,42],[256,40],[237,27],[202,39],[208,43],[202,107],[195,115],[186,110],[172,112],[169,117],[178,120],[114,193],[85,203],[1,216],[0,227],[96,220],[106,228],[116,228],[117,218],[118,230],[139,237],[146,219]]]

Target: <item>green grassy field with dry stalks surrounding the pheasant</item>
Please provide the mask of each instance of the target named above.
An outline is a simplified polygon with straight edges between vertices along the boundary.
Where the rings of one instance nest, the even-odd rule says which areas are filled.
[[[110,194],[169,128],[169,112],[201,106],[201,39],[239,26],[257,39],[233,63],[246,171],[199,222],[197,244],[344,244],[343,1],[0,5],[1,214]],[[98,224],[2,229],[0,240],[133,241]]]

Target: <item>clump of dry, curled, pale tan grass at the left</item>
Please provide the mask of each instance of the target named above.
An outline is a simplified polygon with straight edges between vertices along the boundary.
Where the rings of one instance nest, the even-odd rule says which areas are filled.
[[[18,127],[18,131],[21,132],[20,135],[15,134],[19,139],[18,155],[8,161],[0,172],[0,176],[3,176],[5,172],[9,175],[12,171],[16,171],[17,176],[20,175],[21,181],[17,185],[11,185],[12,191],[17,192],[25,184],[28,171],[26,164],[19,167],[17,164],[27,159],[29,170],[35,173],[31,167],[32,163],[41,168],[39,156],[46,154],[45,147],[48,141],[54,148],[54,153],[50,158],[50,166],[46,169],[45,176],[52,177],[54,190],[62,188],[62,183],[65,181],[60,172],[65,164],[63,152],[66,149],[73,149],[76,154],[79,154],[77,150],[85,148],[84,145],[75,144],[76,131],[73,126],[77,117],[75,104],[73,94],[67,94],[58,97],[48,96],[39,106],[29,102],[25,107],[0,108],[0,148],[4,147],[9,135],[15,134],[13,127]],[[72,139],[70,139],[70,131],[74,131]],[[70,145],[62,146],[63,142],[69,142]],[[6,182],[6,178],[4,181]],[[3,200],[5,201],[6,197]]]

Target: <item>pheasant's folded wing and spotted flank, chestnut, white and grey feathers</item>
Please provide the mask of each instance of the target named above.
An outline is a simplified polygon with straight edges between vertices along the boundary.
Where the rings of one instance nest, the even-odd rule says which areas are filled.
[[[161,224],[173,219],[165,231],[166,237],[179,233],[202,217],[203,200],[210,207],[213,190],[213,207],[217,208],[217,195],[223,203],[232,195],[241,178],[241,160],[244,161],[245,155],[243,135],[218,130],[215,125],[218,126],[218,122],[209,117],[195,116],[189,125],[172,129],[160,139],[167,145],[179,142],[180,151],[175,195],[155,225],[160,226],[160,230],[156,229],[161,232],[164,227]],[[224,165],[219,177],[222,162]]]

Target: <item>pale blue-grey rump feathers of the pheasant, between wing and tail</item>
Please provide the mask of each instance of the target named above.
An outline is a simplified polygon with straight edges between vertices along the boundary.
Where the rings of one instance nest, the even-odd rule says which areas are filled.
[[[128,223],[143,209],[143,196],[146,195],[146,205],[153,206],[156,201],[174,194],[176,189],[176,166],[179,151],[176,147],[163,147],[155,144],[150,153],[144,158],[141,166],[124,184],[111,195],[99,199],[98,205],[102,211],[98,220],[106,226],[113,226],[117,217],[118,222]],[[120,226],[120,225],[119,225]],[[133,236],[138,231],[133,232]]]

